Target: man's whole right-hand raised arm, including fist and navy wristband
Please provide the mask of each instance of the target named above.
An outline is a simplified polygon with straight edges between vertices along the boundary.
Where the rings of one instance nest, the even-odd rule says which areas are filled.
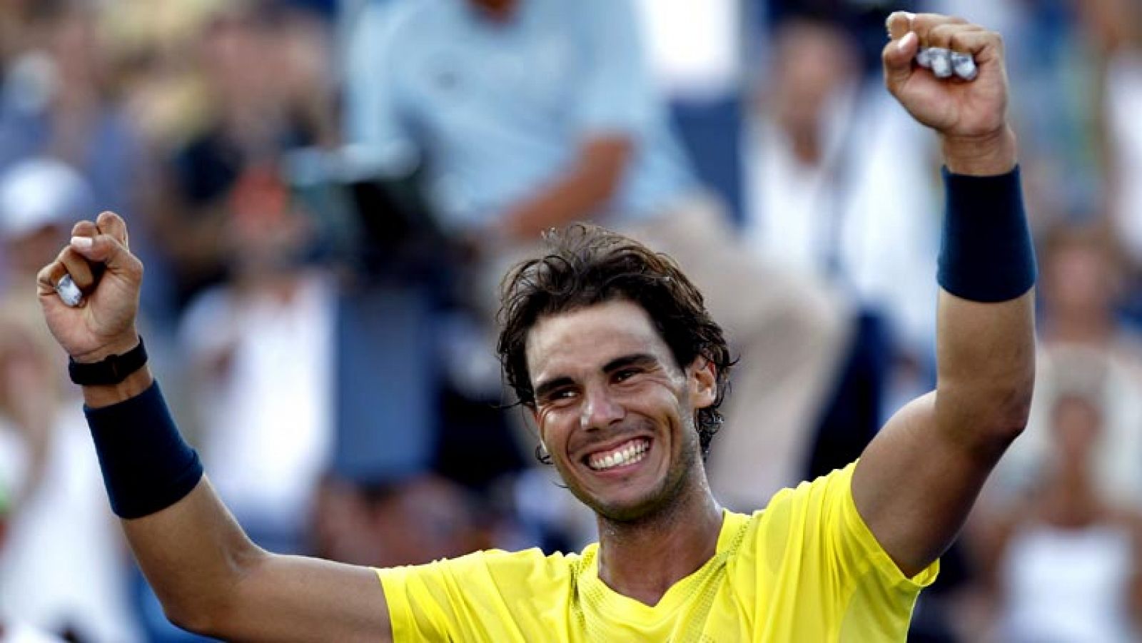
[[[998,34],[894,14],[888,90],[940,135],[948,220],[940,258],[936,389],[898,412],[853,475],[856,509],[906,574],[951,544],[988,474],[1027,423],[1035,376],[1034,254],[1019,193]],[[920,46],[972,54],[973,81],[912,63]]]

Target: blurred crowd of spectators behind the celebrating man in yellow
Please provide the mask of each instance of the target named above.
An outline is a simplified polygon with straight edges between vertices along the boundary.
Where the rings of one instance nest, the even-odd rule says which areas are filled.
[[[723,230],[678,246],[694,274],[740,258],[699,282],[788,377],[735,379],[763,415],[731,396],[729,506],[851,461],[934,381],[940,160],[883,90],[896,9],[1004,34],[1040,267],[1031,424],[911,640],[1137,640],[1136,0],[0,0],[0,641],[194,640],[130,560],[34,300],[105,209],[152,368],[267,548],[595,538],[494,354],[496,279],[566,220]]]

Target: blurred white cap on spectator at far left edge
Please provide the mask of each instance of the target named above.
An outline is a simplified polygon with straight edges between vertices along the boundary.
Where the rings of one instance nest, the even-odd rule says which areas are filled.
[[[0,236],[18,239],[89,214],[87,180],[55,159],[29,159],[0,175]]]

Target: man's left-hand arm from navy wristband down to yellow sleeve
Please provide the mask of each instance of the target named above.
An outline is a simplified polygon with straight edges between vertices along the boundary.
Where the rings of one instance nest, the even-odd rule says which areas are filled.
[[[88,417],[112,506],[127,517],[128,541],[174,622],[227,641],[373,641],[387,633],[370,570],[270,554],[247,538],[193,451],[177,447],[158,388]],[[169,473],[140,481],[151,463],[167,463]],[[154,504],[148,489],[166,500]]]

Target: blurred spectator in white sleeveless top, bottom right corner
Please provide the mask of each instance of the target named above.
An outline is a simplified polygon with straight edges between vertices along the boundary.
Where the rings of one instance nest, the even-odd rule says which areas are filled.
[[[1142,633],[1142,514],[1099,484],[1101,405],[1083,394],[1053,400],[1034,487],[978,547],[996,620],[971,641],[1112,643]]]

